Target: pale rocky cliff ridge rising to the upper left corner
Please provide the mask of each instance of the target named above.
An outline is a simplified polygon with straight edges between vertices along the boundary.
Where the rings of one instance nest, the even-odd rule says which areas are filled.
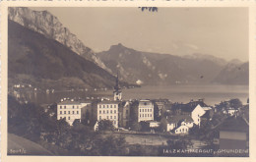
[[[75,34],[67,27],[64,27],[61,22],[49,12],[33,11],[27,7],[9,7],[8,19],[23,27],[39,32],[47,38],[60,42],[73,52],[109,71],[96,57],[95,52],[91,48],[87,47]]]

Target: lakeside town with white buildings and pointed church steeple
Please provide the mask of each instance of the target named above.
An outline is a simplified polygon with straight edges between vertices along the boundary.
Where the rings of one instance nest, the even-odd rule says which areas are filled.
[[[192,143],[187,148],[207,148],[210,144],[216,150],[241,149],[248,153],[248,104],[243,106],[237,99],[215,107],[205,104],[204,99],[189,103],[168,99],[123,100],[118,76],[113,89],[112,99],[61,99],[57,103],[57,120],[65,120],[70,126],[83,123],[101,133],[197,138],[204,142]]]

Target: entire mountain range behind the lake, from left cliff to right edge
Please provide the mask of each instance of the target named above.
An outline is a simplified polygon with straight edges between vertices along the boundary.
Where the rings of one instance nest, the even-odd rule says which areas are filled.
[[[95,53],[47,11],[9,8],[9,83],[109,87],[121,84],[248,84],[248,62],[212,55],[175,56],[138,51],[121,43]]]

